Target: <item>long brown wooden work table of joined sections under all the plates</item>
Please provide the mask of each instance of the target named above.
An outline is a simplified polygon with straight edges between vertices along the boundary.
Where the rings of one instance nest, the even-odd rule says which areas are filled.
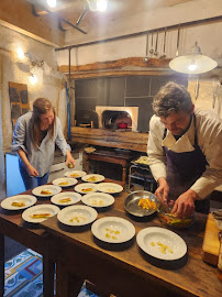
[[[99,212],[98,218],[124,218],[134,224],[136,234],[146,227],[163,227],[155,215],[145,221],[130,217],[124,211],[124,199],[127,195],[116,195],[114,205]],[[49,199],[37,201],[42,202],[49,202]],[[93,283],[104,296],[110,293],[121,297],[222,296],[222,285],[217,277],[215,267],[201,260],[206,221],[207,216],[198,213],[191,228],[175,231],[187,243],[188,255],[166,265],[166,262],[156,262],[144,254],[135,238],[111,248],[93,238],[90,226],[84,229],[67,228],[60,224],[55,216],[34,228],[25,224],[21,212],[8,213],[0,209],[1,296],[4,235],[43,255],[46,297],[53,296],[54,263],[58,297],[77,296],[84,279]]]

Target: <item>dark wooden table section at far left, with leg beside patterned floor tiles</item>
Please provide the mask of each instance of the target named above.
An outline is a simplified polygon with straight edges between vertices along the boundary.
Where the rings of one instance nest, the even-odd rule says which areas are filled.
[[[32,191],[24,191],[31,195]],[[36,202],[49,204],[48,199]],[[48,233],[38,224],[30,224],[23,221],[22,211],[7,211],[0,207],[0,296],[4,290],[4,237],[9,237],[26,248],[43,255],[43,293],[45,297],[54,296],[54,260],[49,257]]]

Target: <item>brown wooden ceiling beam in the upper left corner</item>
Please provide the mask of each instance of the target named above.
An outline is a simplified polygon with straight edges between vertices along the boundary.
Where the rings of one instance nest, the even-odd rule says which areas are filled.
[[[57,16],[53,13],[34,16],[31,3],[25,0],[0,1],[0,24],[56,47],[64,44],[65,34],[58,29]]]

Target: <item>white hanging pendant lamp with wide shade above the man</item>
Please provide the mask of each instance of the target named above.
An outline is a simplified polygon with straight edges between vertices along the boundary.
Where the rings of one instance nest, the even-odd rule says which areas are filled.
[[[196,44],[190,48],[190,53],[170,61],[169,67],[182,74],[203,74],[214,69],[218,63],[212,58],[202,55],[200,46]]]

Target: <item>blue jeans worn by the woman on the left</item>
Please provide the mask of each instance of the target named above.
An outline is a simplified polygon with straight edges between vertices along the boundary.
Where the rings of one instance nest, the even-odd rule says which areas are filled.
[[[47,184],[49,172],[42,177],[32,177],[21,160],[19,161],[19,167],[26,190]]]

